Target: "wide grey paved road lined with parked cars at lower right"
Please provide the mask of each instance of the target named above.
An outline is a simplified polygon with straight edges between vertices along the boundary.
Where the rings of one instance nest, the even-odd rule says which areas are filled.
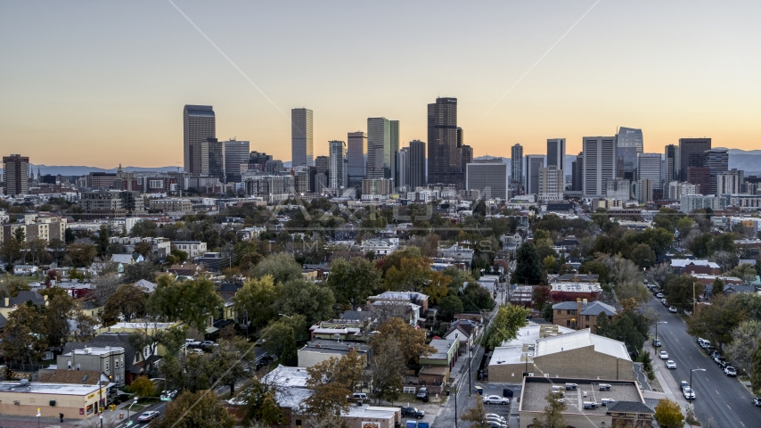
[[[668,358],[676,362],[676,369],[667,370],[665,362],[656,358],[653,364],[661,366],[661,373],[664,376],[671,374],[678,384],[680,381],[690,382],[691,369],[706,369],[705,372],[692,373],[692,387],[695,390],[693,404],[700,422],[705,425],[708,418],[713,418],[716,427],[761,426],[761,409],[751,403],[753,397],[750,392],[736,378],[725,376],[721,368],[708,358],[697,339],[687,334],[687,325],[682,318],[669,313],[660,300],[652,299],[649,305],[662,321],[668,323],[658,326],[658,337],[663,343],[660,350],[666,350]],[[673,393],[683,397],[682,391]]]

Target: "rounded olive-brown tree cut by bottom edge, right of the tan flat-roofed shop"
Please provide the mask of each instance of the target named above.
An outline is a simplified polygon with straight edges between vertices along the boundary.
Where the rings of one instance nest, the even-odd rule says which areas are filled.
[[[167,405],[164,415],[151,422],[157,428],[233,428],[235,416],[214,391],[184,391]]]

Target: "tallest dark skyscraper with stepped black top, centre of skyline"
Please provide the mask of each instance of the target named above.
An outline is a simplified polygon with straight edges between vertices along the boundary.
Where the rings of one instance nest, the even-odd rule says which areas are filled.
[[[464,184],[457,134],[457,98],[428,104],[429,183]]]

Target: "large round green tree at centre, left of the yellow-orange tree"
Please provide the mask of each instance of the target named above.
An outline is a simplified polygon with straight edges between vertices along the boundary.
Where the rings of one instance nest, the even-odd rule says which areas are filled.
[[[327,284],[338,303],[354,309],[380,288],[380,272],[366,259],[337,259],[331,265]]]

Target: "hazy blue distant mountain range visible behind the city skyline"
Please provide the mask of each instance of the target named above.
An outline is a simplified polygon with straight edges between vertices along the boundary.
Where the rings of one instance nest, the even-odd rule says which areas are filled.
[[[479,156],[478,158],[475,158],[477,160],[483,160],[483,159],[493,159],[495,157],[498,157],[502,159],[504,162],[510,163],[510,158],[505,158],[502,156]],[[570,165],[571,162],[576,160],[575,155],[566,155],[566,165],[568,166],[566,169],[568,171],[566,174],[570,174]],[[290,161],[283,162],[283,166],[286,168],[290,167]],[[53,176],[61,175],[61,176],[84,176],[89,174],[90,172],[116,172],[116,168],[111,169],[104,169],[104,168],[97,168],[97,167],[87,167],[87,166],[73,166],[73,165],[31,165],[32,171],[37,175],[37,168],[39,168],[42,175],[50,174]],[[742,169],[745,171],[746,176],[750,174],[761,174],[761,150],[740,150],[740,149],[729,149],[729,168],[733,169]],[[168,171],[177,171],[182,170],[182,168],[177,168],[173,166],[166,166],[166,167],[155,167],[155,168],[147,168],[147,167],[124,167],[123,168],[127,172],[168,172]],[[2,169],[0,169],[2,171]]]

